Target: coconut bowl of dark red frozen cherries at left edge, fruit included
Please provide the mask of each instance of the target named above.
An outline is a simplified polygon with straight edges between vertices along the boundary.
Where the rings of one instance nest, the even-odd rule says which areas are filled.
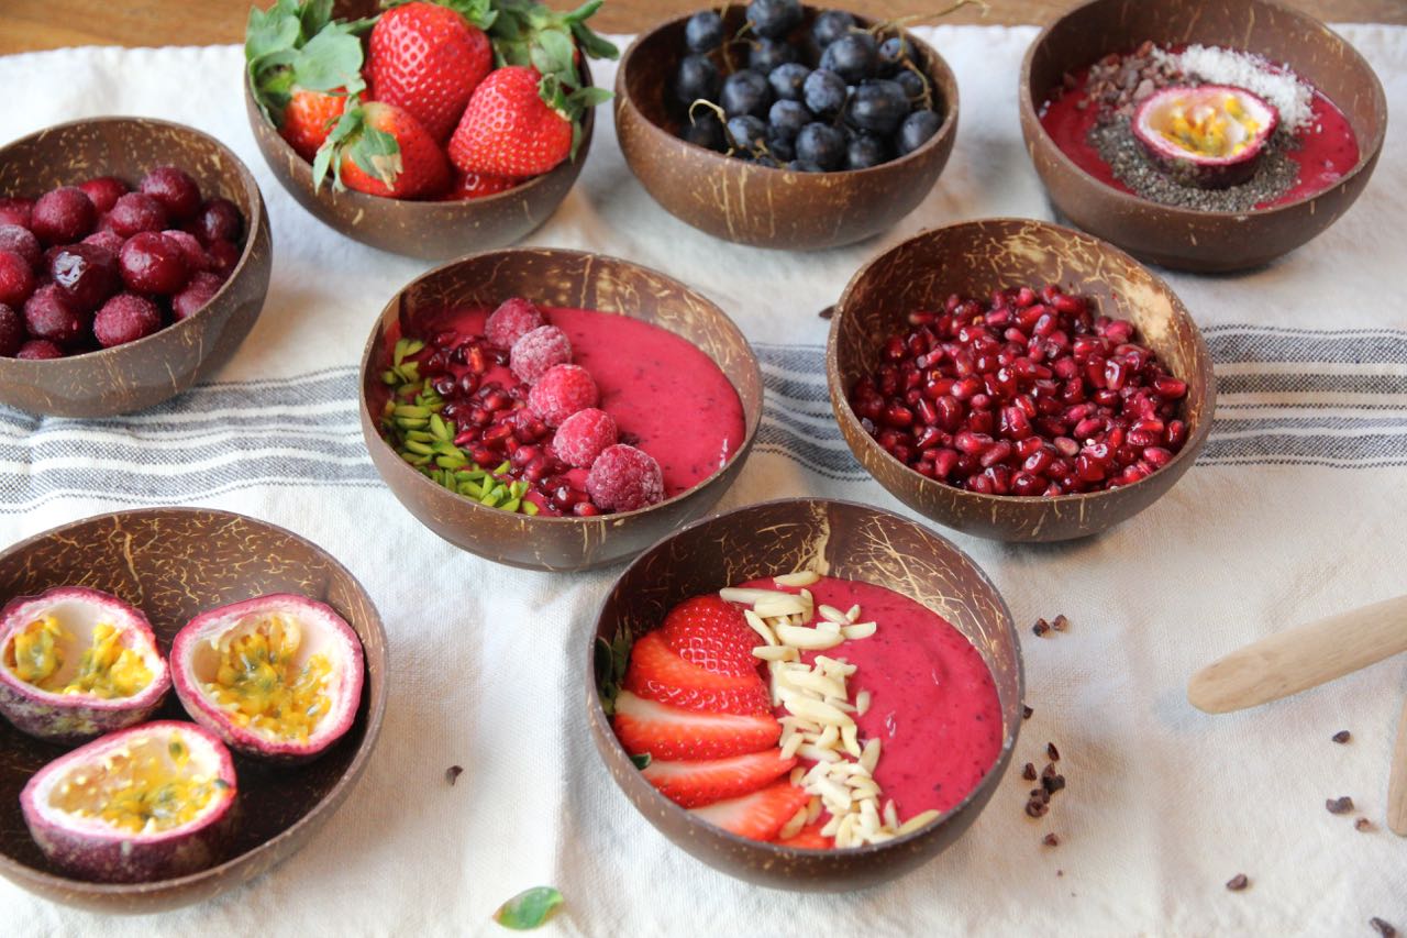
[[[263,196],[234,151],[136,117],[0,148],[0,403],[110,417],[234,354],[269,292]]]

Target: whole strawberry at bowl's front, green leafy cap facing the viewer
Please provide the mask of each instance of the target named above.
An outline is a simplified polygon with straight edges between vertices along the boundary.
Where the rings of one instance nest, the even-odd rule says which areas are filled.
[[[366,101],[342,115],[312,163],[317,183],[329,165],[342,185],[370,196],[414,199],[449,185],[443,151],[419,121],[384,101]]]

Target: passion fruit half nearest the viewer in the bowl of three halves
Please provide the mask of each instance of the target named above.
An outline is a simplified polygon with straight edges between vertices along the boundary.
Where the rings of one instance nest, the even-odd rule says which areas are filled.
[[[53,866],[97,883],[146,883],[212,866],[234,830],[229,749],[191,723],[108,734],[39,769],[20,793]]]

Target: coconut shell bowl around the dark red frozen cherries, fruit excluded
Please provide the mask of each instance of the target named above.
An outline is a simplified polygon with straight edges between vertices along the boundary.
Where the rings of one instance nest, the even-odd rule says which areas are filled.
[[[0,148],[0,194],[37,196],[93,176],[135,185],[167,163],[245,217],[243,254],[224,287],[194,315],[135,342],[49,361],[0,358],[0,403],[53,417],[152,407],[218,370],[253,328],[273,263],[269,214],[249,169],[214,137],[145,117],[58,124]]]

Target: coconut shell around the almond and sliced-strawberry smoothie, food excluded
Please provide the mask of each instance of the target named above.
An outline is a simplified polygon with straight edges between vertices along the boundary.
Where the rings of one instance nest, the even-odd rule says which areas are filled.
[[[1002,751],[972,793],[933,824],[858,849],[808,851],[750,841],[698,820],[660,794],[616,739],[598,690],[601,642],[609,645],[619,634],[639,638],[691,596],[798,569],[885,586],[927,606],[962,632],[991,669],[1002,707]],[[1021,646],[992,582],[962,551],[922,524],[848,501],[765,501],[706,518],[660,541],[616,580],[578,666],[585,672],[597,752],[630,803],[670,841],[709,866],[775,889],[864,889],[929,862],[982,813],[1021,727]]]

